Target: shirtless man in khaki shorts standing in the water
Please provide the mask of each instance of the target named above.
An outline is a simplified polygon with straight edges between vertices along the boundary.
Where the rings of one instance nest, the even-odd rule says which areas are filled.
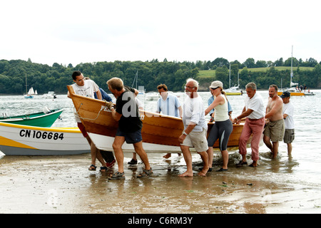
[[[266,128],[263,132],[263,142],[271,150],[272,158],[277,157],[279,141],[283,140],[285,125],[282,115],[283,102],[277,96],[277,86],[271,85],[269,88],[269,100],[266,106]],[[272,141],[272,144],[270,142]]]

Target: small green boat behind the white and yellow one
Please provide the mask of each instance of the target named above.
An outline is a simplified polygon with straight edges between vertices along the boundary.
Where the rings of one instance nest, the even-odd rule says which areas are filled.
[[[0,117],[0,122],[50,128],[63,112],[63,109],[49,110],[46,107],[44,110],[46,110],[46,113],[39,112],[26,115],[2,116]]]

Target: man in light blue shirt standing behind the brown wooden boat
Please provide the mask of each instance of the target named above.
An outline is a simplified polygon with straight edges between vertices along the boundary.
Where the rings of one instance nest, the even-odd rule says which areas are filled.
[[[171,115],[175,117],[182,118],[183,108],[180,105],[178,97],[168,93],[168,88],[165,84],[157,86],[158,93],[161,95],[161,98],[157,100],[157,110],[156,113],[163,113],[165,115]],[[171,153],[164,155],[164,158],[170,158]],[[180,153],[178,153],[180,156]]]

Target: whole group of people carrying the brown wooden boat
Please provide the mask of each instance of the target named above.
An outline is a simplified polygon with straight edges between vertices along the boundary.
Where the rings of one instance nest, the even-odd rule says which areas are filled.
[[[73,81],[75,82],[73,90],[78,95],[85,95],[94,98],[94,93],[97,93],[97,98],[102,99],[101,91],[95,82],[83,78],[80,71],[73,72]],[[143,149],[143,140],[141,136],[141,129],[143,123],[138,115],[138,104],[136,95],[138,90],[123,85],[121,78],[111,78],[107,81],[108,89],[116,98],[116,106],[113,103],[106,103],[108,109],[114,120],[118,121],[118,129],[115,140],[113,141],[113,151],[118,164],[118,171],[111,175],[108,179],[119,180],[125,178],[123,168],[123,150],[122,145],[126,141],[128,144],[133,144],[135,152],[141,157],[145,165],[143,172],[137,177],[150,177],[153,170],[148,161],[148,155]],[[240,115],[232,119],[230,116],[230,104],[228,98],[223,90],[223,83],[220,81],[213,81],[210,85],[211,99],[213,102],[209,103],[208,108],[204,108],[203,100],[198,94],[198,81],[189,78],[185,83],[185,93],[187,98],[184,100],[183,108],[181,107],[175,95],[168,93],[168,88],[165,85],[158,86],[158,92],[161,98],[158,100],[158,113],[166,115],[174,115],[182,118],[184,130],[178,138],[180,142],[180,150],[186,162],[187,170],[180,177],[192,177],[192,156],[190,147],[194,147],[203,160],[203,168],[200,169],[198,175],[205,176],[207,172],[212,171],[213,162],[213,144],[219,140],[219,147],[223,157],[223,166],[217,170],[223,172],[228,170],[228,139],[230,133],[233,131],[233,123],[239,124],[242,118],[245,118],[245,125],[240,135],[239,152],[242,155],[242,160],[238,162],[237,166],[248,165],[246,160],[246,145],[248,139],[252,135],[251,148],[253,163],[250,167],[258,166],[258,150],[260,139],[263,136],[263,141],[272,152],[272,157],[277,156],[278,143],[283,140],[284,134],[287,135],[285,142],[288,145],[288,152],[290,155],[290,145],[294,139],[294,126],[290,132],[285,131],[285,121],[292,121],[293,108],[283,115],[283,103],[289,103],[290,93],[285,92],[280,97],[277,96],[277,86],[272,85],[269,88],[269,100],[267,108],[264,110],[263,98],[259,93],[256,93],[257,88],[255,83],[248,83],[246,86],[247,96],[245,98],[245,106]],[[172,97],[173,96],[173,97]],[[214,99],[213,99],[214,98]],[[282,98],[282,99],[281,99]],[[292,105],[292,104],[291,104]],[[215,110],[215,112],[213,112]],[[205,120],[205,115],[213,115],[215,123],[207,137],[208,123]],[[285,121],[284,121],[285,120]],[[101,162],[101,172],[105,172],[108,167],[115,164],[112,152],[109,152],[108,162],[103,160],[103,156],[97,150],[95,145],[91,142],[86,129],[80,120],[77,120],[78,128],[87,138],[91,145],[92,164],[90,170],[96,170],[96,157]],[[265,130],[264,130],[265,128]],[[264,130],[264,132],[263,132]],[[290,136],[289,136],[290,135]],[[272,141],[272,142],[271,142]],[[291,147],[292,150],[292,147]],[[166,155],[165,155],[166,156]],[[169,157],[169,155],[167,155]],[[133,160],[132,160],[133,161]]]

